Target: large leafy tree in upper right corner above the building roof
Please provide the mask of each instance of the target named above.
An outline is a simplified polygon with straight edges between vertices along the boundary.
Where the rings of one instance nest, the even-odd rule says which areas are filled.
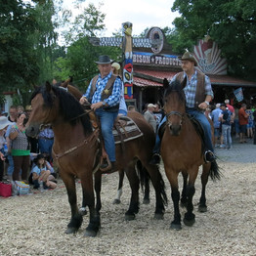
[[[192,50],[198,39],[210,35],[227,58],[231,74],[256,80],[254,0],[176,0],[172,11],[182,15],[173,22],[176,28],[169,38],[174,45]]]

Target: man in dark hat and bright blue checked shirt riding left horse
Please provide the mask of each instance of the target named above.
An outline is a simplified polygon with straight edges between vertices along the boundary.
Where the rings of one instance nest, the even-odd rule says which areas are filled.
[[[107,55],[100,56],[95,63],[98,64],[100,74],[91,80],[86,93],[80,99],[80,104],[83,105],[86,101],[91,103],[91,108],[100,119],[101,132],[110,161],[110,164],[107,161],[103,162],[100,169],[102,171],[114,171],[116,168],[115,145],[112,128],[118,115],[122,80],[119,76],[112,74],[112,60]]]

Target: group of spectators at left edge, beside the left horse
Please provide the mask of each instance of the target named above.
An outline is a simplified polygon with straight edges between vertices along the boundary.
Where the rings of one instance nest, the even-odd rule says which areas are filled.
[[[46,126],[37,138],[27,137],[25,124],[30,112],[30,106],[11,106],[9,115],[2,113],[0,116],[0,181],[21,181],[33,189],[38,189],[41,182],[45,190],[55,189],[54,133]]]

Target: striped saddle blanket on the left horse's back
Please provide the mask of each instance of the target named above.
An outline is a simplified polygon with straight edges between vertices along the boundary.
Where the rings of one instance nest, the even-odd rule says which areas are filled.
[[[114,143],[128,142],[142,137],[143,132],[137,124],[128,116],[119,116],[113,126]]]

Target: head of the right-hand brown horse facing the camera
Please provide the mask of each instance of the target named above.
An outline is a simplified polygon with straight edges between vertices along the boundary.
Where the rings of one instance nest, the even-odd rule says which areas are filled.
[[[178,136],[181,133],[184,115],[186,114],[186,98],[183,89],[186,86],[187,78],[182,83],[174,80],[167,84],[168,81],[166,81],[166,79],[163,81],[166,124],[171,135]]]

